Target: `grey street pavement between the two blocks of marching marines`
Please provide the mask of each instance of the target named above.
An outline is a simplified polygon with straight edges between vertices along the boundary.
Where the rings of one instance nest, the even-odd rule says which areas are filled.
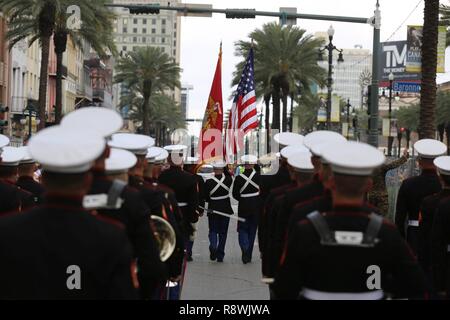
[[[210,261],[208,218],[200,218],[192,251],[194,261],[187,265],[182,300],[269,299],[268,287],[261,283],[258,243],[255,242],[252,262],[244,265],[236,230],[237,221],[233,219],[228,228],[224,262]]]

